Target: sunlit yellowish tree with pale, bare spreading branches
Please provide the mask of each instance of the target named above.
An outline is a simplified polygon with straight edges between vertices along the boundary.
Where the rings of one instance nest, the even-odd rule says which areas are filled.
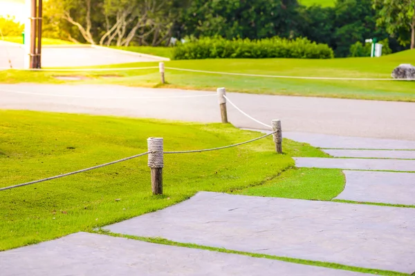
[[[45,21],[66,39],[105,46],[167,44],[188,0],[49,0]],[[62,20],[63,19],[63,20]]]

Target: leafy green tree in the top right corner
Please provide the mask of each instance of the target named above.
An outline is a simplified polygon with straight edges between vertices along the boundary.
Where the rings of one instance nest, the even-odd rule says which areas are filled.
[[[402,45],[408,42],[405,32],[410,32],[411,49],[414,49],[415,0],[374,0],[373,7],[378,12],[378,26],[385,26],[391,35],[397,34]]]

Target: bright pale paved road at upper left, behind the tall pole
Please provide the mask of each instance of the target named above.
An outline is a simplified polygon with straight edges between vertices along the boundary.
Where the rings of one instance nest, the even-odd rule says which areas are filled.
[[[0,41],[0,68],[10,68],[9,59],[13,68],[23,68],[24,48],[17,43]],[[42,48],[43,67],[98,66],[140,61],[158,61],[158,59],[89,46]]]

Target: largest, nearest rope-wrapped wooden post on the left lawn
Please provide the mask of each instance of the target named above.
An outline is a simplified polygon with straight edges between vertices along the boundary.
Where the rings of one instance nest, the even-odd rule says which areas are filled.
[[[151,189],[153,195],[163,194],[163,138],[150,137],[147,139],[149,151],[148,165],[151,168]]]

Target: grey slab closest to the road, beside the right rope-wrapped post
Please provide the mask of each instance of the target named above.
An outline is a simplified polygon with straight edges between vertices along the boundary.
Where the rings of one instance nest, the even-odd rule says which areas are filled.
[[[343,137],[302,132],[283,132],[284,138],[311,144],[319,148],[369,148],[385,150],[415,150],[415,141]]]

